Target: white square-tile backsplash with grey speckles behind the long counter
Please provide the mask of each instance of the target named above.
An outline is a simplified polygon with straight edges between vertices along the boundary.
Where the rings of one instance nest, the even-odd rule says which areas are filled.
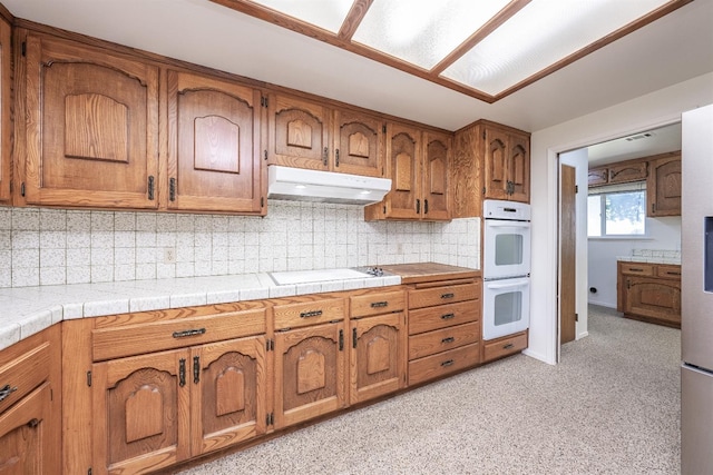
[[[0,288],[418,261],[479,268],[479,218],[365,222],[349,205],[271,201],[264,218],[0,209]]]

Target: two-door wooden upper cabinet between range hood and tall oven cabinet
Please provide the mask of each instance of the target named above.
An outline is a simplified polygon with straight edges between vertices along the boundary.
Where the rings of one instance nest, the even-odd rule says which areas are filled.
[[[448,133],[387,125],[387,177],[391,191],[383,201],[364,208],[367,220],[449,220],[450,160]]]

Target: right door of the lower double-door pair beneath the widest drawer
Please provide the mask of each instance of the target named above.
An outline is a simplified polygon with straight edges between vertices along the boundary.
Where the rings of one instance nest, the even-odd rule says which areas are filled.
[[[192,365],[193,456],[264,434],[265,337],[196,347]]]

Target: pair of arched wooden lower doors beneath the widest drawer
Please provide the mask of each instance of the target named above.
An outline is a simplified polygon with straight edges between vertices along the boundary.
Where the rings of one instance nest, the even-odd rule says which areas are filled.
[[[265,377],[263,336],[95,364],[96,473],[155,471],[264,433]]]

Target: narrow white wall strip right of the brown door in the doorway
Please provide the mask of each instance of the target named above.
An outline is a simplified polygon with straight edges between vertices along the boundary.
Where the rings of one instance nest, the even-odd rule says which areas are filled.
[[[576,267],[576,307],[578,315],[575,327],[576,339],[588,335],[587,331],[587,181],[588,181],[588,155],[586,149],[579,149],[559,155],[563,165],[576,168],[575,180],[578,192],[576,199],[577,247],[575,258]]]

